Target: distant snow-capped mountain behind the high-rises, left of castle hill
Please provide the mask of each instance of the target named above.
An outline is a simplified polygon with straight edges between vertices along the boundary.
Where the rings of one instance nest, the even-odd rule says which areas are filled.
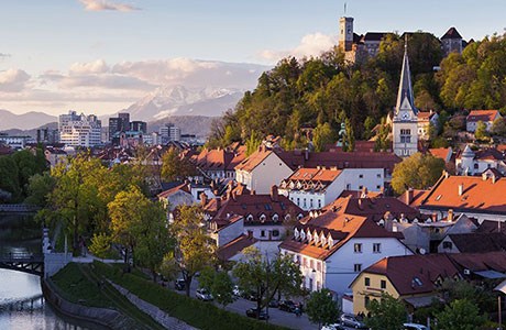
[[[218,117],[234,108],[242,96],[239,89],[160,87],[123,111],[144,121],[170,116]]]

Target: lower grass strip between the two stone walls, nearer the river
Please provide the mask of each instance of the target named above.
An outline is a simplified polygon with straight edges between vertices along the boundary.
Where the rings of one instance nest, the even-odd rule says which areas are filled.
[[[94,265],[70,263],[53,276],[53,282],[58,294],[72,302],[116,309],[133,319],[138,329],[164,329],[102,280]]]

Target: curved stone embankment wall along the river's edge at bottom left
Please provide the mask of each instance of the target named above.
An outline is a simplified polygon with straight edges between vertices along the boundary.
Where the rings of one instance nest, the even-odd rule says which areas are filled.
[[[98,323],[110,329],[136,329],[135,321],[123,314],[108,308],[88,307],[62,298],[51,279],[42,279],[44,298],[59,312],[88,322]]]

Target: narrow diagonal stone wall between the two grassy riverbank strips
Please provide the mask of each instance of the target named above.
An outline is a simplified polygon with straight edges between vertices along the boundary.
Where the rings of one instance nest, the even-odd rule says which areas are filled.
[[[142,300],[134,294],[130,293],[128,289],[124,287],[112,283],[109,280],[109,283],[118,290],[127,299],[130,300],[135,307],[151,316],[155,321],[161,323],[163,327],[169,330],[197,330],[197,328],[194,328],[184,321],[170,317],[168,314],[160,309],[158,307]]]

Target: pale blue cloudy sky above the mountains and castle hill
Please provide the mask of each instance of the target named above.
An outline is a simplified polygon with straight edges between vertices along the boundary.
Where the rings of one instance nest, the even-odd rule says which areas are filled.
[[[455,26],[482,40],[506,28],[505,0],[345,2],[344,13],[342,0],[2,0],[0,109],[106,114],[160,86],[252,89],[284,56],[329,50],[342,15],[359,34]]]

